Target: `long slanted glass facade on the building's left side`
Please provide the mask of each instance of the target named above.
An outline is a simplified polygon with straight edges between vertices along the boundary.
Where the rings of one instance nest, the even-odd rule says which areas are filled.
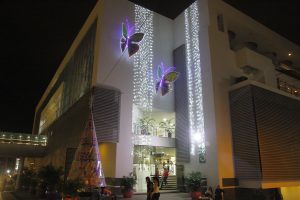
[[[50,91],[40,112],[39,133],[65,113],[92,85],[96,21],[92,24]]]

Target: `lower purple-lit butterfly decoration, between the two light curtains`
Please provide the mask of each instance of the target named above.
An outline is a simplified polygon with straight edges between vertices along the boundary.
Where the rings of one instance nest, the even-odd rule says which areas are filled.
[[[172,83],[174,83],[180,73],[175,71],[175,67],[167,67],[165,68],[163,63],[161,63],[161,65],[158,65],[157,68],[157,82],[155,85],[155,89],[156,89],[156,93],[160,90],[161,91],[161,95],[164,96],[166,95],[171,87],[172,87]]]

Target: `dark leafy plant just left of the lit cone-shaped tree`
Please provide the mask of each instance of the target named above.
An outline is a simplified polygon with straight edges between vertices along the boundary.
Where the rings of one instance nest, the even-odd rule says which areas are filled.
[[[62,168],[55,168],[52,165],[42,167],[38,172],[40,179],[40,189],[47,190],[48,199],[57,199],[57,189],[61,189],[63,170]],[[41,191],[46,192],[46,191]]]

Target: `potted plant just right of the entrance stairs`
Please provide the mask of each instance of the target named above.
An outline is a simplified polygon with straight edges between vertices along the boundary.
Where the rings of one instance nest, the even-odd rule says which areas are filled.
[[[199,199],[199,197],[201,196],[201,179],[201,172],[192,172],[186,178],[186,184],[191,191],[191,197],[193,200]]]

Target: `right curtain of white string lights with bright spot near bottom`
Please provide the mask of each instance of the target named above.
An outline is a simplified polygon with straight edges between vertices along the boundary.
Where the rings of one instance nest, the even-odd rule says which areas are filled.
[[[197,1],[184,12],[186,65],[188,81],[188,110],[190,128],[190,153],[205,153],[202,77],[199,47],[199,11]]]

